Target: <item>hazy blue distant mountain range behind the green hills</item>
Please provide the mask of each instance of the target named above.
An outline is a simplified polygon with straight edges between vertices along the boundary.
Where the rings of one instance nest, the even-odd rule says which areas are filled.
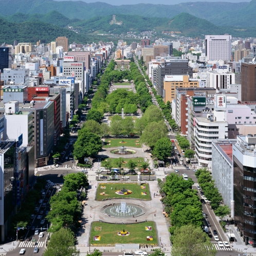
[[[248,19],[244,10],[255,13],[256,8],[250,3],[227,3],[227,2],[188,2],[177,5],[121,5],[113,6],[106,3],[85,3],[82,1],[63,1],[53,0],[0,0],[0,15],[12,15],[18,12],[25,14],[45,14],[51,11],[58,11],[69,19],[88,20],[92,17],[107,16],[112,14],[143,15],[145,17],[167,17],[171,18],[181,12],[187,12],[191,15],[211,21],[215,25],[255,26],[251,25],[253,19]],[[252,9],[250,9],[252,8]],[[228,16],[226,14],[228,13]],[[233,15],[232,13],[237,13]],[[216,19],[216,16],[218,19]],[[233,23],[228,24],[232,17]],[[221,22],[221,24],[220,24]],[[255,21],[256,22],[256,21]]]

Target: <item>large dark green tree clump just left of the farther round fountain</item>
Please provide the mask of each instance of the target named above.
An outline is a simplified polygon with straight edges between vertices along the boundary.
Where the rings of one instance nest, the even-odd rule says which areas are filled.
[[[82,129],[78,133],[78,139],[74,144],[73,154],[80,163],[84,163],[85,157],[95,157],[102,149],[100,137],[88,129]]]

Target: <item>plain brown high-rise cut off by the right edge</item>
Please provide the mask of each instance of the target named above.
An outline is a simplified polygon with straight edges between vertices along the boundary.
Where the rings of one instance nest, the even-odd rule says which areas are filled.
[[[242,101],[256,101],[256,63],[241,64]]]

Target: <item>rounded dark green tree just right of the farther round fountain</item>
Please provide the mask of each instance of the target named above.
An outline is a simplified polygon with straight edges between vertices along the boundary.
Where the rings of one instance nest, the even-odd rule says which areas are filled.
[[[153,154],[159,159],[164,161],[172,154],[172,142],[167,137],[162,137],[157,140]]]

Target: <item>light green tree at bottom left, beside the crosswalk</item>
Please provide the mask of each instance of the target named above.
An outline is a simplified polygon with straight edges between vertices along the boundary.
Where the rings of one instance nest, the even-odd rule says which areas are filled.
[[[74,233],[70,229],[61,228],[51,235],[43,256],[79,255],[75,243]]]

